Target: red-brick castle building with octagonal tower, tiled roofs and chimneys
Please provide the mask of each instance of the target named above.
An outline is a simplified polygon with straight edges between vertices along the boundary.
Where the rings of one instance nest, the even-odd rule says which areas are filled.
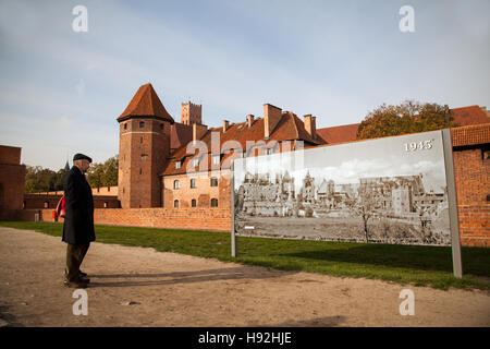
[[[151,84],[139,87],[120,123],[119,200],[122,208],[229,207],[230,166],[236,157],[326,144],[316,118],[266,104],[264,118],[203,124],[203,108],[181,105],[181,122],[168,113]],[[203,151],[204,149],[204,151]]]

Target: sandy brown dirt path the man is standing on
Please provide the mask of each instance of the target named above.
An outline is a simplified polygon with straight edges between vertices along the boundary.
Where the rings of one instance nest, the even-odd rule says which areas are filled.
[[[490,294],[242,266],[93,243],[88,315],[62,285],[65,244],[0,228],[0,323],[10,326],[490,326]],[[415,315],[399,312],[415,293]],[[135,302],[128,305],[128,302]]]

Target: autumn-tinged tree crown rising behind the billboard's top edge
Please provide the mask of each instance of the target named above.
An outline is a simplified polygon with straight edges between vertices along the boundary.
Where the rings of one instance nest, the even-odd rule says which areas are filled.
[[[438,104],[407,100],[399,106],[383,104],[370,111],[357,129],[357,140],[454,128],[451,111]]]

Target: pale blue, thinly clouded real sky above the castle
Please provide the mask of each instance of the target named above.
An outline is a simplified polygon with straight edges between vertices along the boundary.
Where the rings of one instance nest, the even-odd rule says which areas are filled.
[[[488,0],[0,0],[0,145],[53,170],[75,153],[103,163],[148,82],[175,121],[191,100],[209,127],[266,103],[317,129],[407,99],[490,107],[488,13]]]

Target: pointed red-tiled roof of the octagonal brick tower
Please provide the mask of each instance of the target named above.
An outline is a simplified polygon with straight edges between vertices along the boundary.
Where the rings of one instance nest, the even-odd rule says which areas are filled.
[[[161,104],[160,98],[158,98],[154,86],[149,83],[138,88],[118,121],[121,122],[130,117],[157,117],[171,123],[174,122]]]

